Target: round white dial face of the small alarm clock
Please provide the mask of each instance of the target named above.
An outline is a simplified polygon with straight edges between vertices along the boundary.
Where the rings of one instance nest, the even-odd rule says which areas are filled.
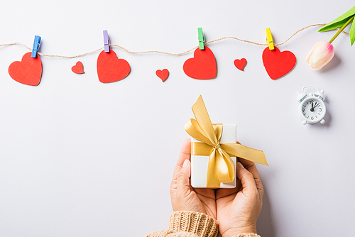
[[[302,101],[301,113],[309,123],[317,123],[325,116],[325,105],[321,99],[310,97]]]

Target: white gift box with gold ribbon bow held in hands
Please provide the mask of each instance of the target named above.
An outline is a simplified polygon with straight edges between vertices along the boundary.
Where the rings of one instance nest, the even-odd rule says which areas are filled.
[[[236,143],[235,124],[212,124],[200,96],[192,106],[195,118],[185,124],[191,142],[192,187],[236,187],[236,158],[268,165],[262,150]]]

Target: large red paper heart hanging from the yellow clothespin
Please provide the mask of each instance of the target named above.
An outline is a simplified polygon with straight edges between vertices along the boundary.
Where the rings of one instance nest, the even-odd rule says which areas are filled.
[[[278,79],[293,70],[296,64],[296,57],[290,51],[280,52],[278,48],[263,50],[263,64],[271,79]]]

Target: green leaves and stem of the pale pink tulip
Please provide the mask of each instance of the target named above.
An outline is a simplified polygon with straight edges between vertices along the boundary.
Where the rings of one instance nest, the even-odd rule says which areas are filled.
[[[351,28],[350,28],[350,33],[349,33],[350,34],[350,42],[351,42],[351,45],[353,45],[355,42],[354,15],[355,15],[355,6],[353,8],[351,8],[349,11],[346,11],[346,13],[344,13],[342,16],[339,16],[334,21],[327,23],[327,25],[320,28],[319,32],[330,31],[330,30],[334,30],[336,28],[341,28],[341,27],[342,27],[341,30],[343,30],[345,28],[345,26],[347,26],[349,23],[351,23],[351,21],[353,21]],[[340,32],[342,32],[342,31],[339,31],[339,33]],[[339,35],[339,33],[337,35]],[[334,40],[334,38],[337,37],[337,35],[334,35],[332,40]],[[332,40],[330,40],[330,41],[332,41]],[[329,41],[329,43],[332,43],[330,41]]]

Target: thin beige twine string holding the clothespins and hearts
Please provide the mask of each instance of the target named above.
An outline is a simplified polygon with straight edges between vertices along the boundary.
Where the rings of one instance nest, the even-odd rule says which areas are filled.
[[[288,42],[288,40],[290,40],[291,38],[293,38],[293,36],[295,36],[297,33],[299,33],[300,31],[304,31],[305,29],[307,28],[310,28],[310,27],[313,27],[313,26],[324,26],[326,24],[315,24],[315,25],[310,25],[310,26],[305,26],[304,28],[296,31],[295,33],[293,33],[293,35],[291,35],[287,40],[285,40],[283,43],[278,43],[278,44],[275,44],[275,46],[278,46],[278,45],[283,45],[285,44],[286,42]],[[343,33],[345,33],[346,35],[349,35],[349,33],[345,32],[345,31],[342,31]],[[217,42],[217,41],[220,41],[220,40],[226,40],[226,39],[234,39],[234,40],[239,40],[241,42],[244,42],[244,43],[252,43],[254,45],[262,45],[262,46],[267,46],[268,44],[267,43],[256,43],[256,42],[253,42],[253,41],[249,41],[249,40],[241,40],[239,38],[236,38],[236,37],[233,37],[233,36],[227,36],[227,37],[223,37],[223,38],[219,38],[217,40],[210,40],[210,41],[207,41],[204,43],[204,45],[207,45],[209,43],[214,43],[214,42]],[[32,51],[32,48],[29,48],[28,46],[26,45],[23,45],[23,43],[21,42],[14,42],[14,43],[6,43],[6,44],[2,44],[0,45],[1,46],[9,46],[9,45],[22,45],[23,47],[27,48],[28,50]],[[115,45],[115,44],[110,44],[110,46],[115,46],[115,47],[118,47],[118,48],[121,48],[122,50],[126,51],[127,53],[130,53],[130,54],[146,54],[146,53],[160,53],[160,54],[164,54],[164,55],[175,55],[175,56],[179,56],[179,55],[185,55],[186,53],[189,53],[191,52],[192,50],[195,50],[197,48],[199,48],[198,46],[197,47],[194,47],[190,50],[186,50],[185,52],[182,52],[182,53],[167,53],[167,52],[162,52],[162,51],[157,51],[157,50],[150,50],[150,51],[141,51],[141,52],[132,52],[132,51],[129,51],[127,50],[126,48],[122,47],[121,45]],[[96,53],[97,51],[100,51],[102,50],[104,47],[102,48],[99,48],[97,50],[92,50],[90,52],[87,52],[87,53],[82,53],[80,55],[74,55],[74,56],[63,56],[63,55],[46,55],[44,53],[39,53],[38,52],[38,55],[40,56],[45,56],[45,57],[65,57],[65,58],[75,58],[75,57],[82,57],[82,56],[85,56],[85,55],[89,55],[89,54],[92,54],[92,53]]]

